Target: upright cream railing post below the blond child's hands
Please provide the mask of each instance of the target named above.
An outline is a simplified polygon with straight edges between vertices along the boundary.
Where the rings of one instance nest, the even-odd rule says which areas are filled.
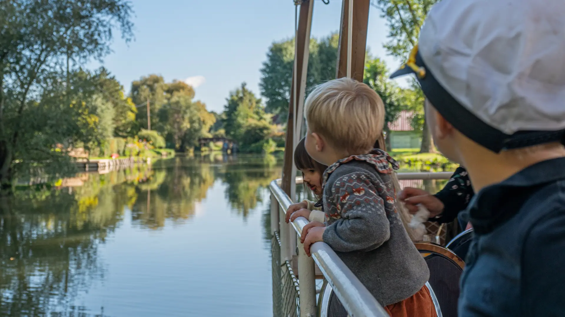
[[[316,316],[314,259],[307,256],[302,243],[298,245],[298,285],[300,287],[300,315]]]

